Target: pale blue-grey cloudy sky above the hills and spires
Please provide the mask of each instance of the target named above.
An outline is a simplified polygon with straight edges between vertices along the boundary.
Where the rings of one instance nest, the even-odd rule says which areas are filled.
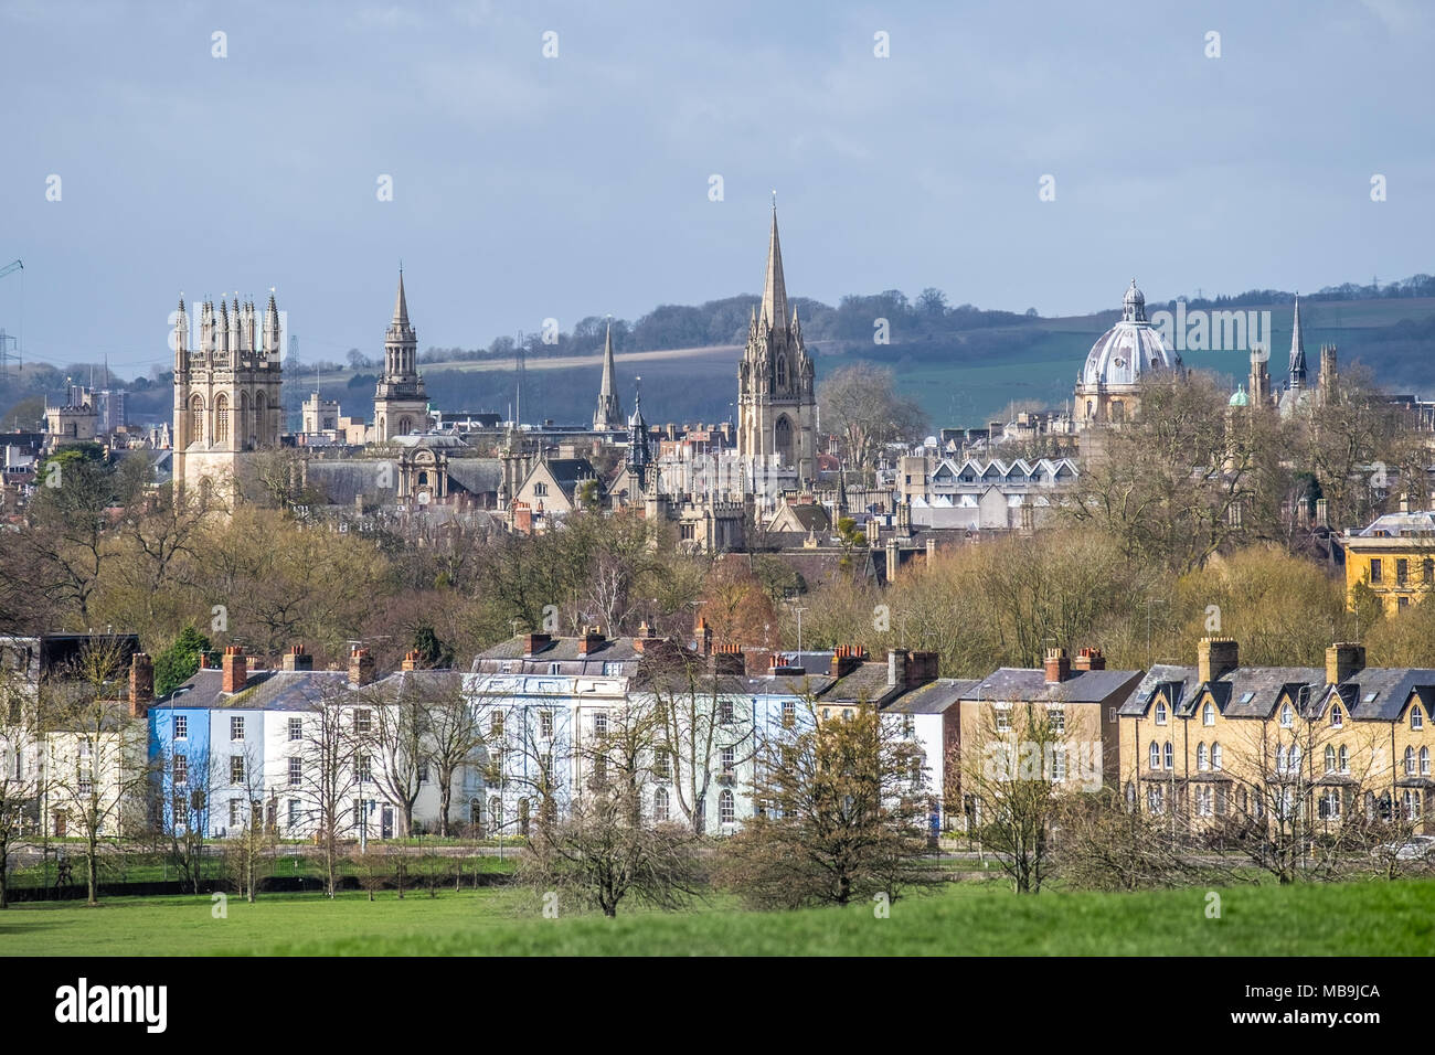
[[[758,294],[773,191],[827,303],[1402,278],[1432,52],[1422,0],[0,0],[0,327],[131,376],[181,293],[273,287],[375,356],[402,260],[419,347],[486,346]]]

